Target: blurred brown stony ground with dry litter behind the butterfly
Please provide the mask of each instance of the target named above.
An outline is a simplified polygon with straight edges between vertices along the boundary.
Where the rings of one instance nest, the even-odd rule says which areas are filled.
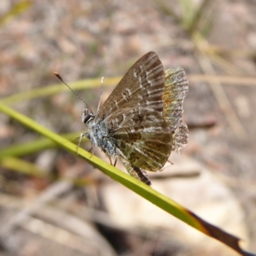
[[[194,1],[186,9],[186,2],[190,1],[1,0],[0,95],[3,99],[56,84],[56,70],[68,82],[123,76],[148,51],[157,52],[165,69],[182,66],[190,78],[184,102],[189,144],[182,156],[170,157],[174,165],[161,175],[182,173],[184,168],[201,175],[179,178],[177,196],[172,177],[152,182],[214,225],[227,227],[217,218],[227,214],[225,220],[235,221],[228,224],[228,231],[256,252],[256,88],[255,81],[239,84],[236,78],[256,79],[256,3]],[[15,9],[18,3],[23,4]],[[200,6],[198,19],[189,21]],[[197,74],[219,79],[206,83]],[[229,82],[221,83],[221,75]],[[110,92],[104,88],[103,100]],[[79,95],[97,108],[99,89]],[[79,117],[83,102],[72,93],[21,101],[13,107],[58,133],[84,129]],[[0,122],[1,148],[39,138],[3,114]],[[197,235],[188,236],[191,228],[182,233],[179,227],[178,233],[174,226],[179,220],[174,218],[168,235],[159,225],[150,227],[156,219],[165,220],[159,213],[146,221],[143,230],[138,223],[130,222],[130,228],[118,225],[115,207],[120,209],[121,223],[131,221],[131,216],[122,211],[122,200],[116,198],[114,204],[108,198],[124,196],[130,205],[134,195],[64,150],[44,150],[24,159],[51,175],[85,177],[90,184],[73,186],[67,180],[32,177],[0,166],[0,255],[232,255],[229,249],[222,251],[227,249],[223,244],[218,243],[218,249],[209,246],[209,237],[193,241]],[[136,201],[138,209],[131,204],[126,212],[143,214],[141,205]]]

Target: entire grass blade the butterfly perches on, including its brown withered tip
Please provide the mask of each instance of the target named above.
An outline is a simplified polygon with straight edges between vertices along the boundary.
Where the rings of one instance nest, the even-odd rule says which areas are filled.
[[[71,143],[67,139],[59,136],[58,134],[55,134],[54,132],[49,131],[45,127],[42,127],[42,125],[37,124],[35,121],[28,118],[28,116],[20,114],[19,112],[13,110],[12,108],[4,105],[1,102],[0,111],[6,115],[11,116],[15,120],[33,129],[34,131],[51,139],[58,145],[61,145],[61,147],[66,148],[68,151],[72,152],[73,154],[77,154],[77,145],[74,145],[74,143]],[[157,205],[164,211],[172,214],[179,220],[184,221],[188,225],[191,225],[191,227],[196,228],[197,230],[203,232],[207,236],[214,237],[215,239],[218,239],[222,243],[227,244],[227,246],[230,246],[230,248],[233,248],[241,255],[249,255],[248,252],[245,252],[240,248],[239,238],[228,234],[227,232],[221,230],[218,227],[215,227],[214,225],[211,225],[210,223],[207,223],[207,221],[202,220],[193,212],[182,207],[182,205],[177,204],[167,196],[164,196],[161,193],[157,192],[156,190],[150,188],[146,184],[140,182],[140,180],[136,180],[130,175],[127,175],[126,173],[116,169],[114,166],[105,163],[98,157],[92,156],[91,153],[83,150],[82,148],[79,148],[78,154],[79,157],[84,158],[88,163],[92,164],[93,166],[101,170],[103,173],[111,177],[111,179],[120,182],[125,187],[131,189],[132,191],[147,199],[149,202],[152,202],[152,204]],[[4,159],[2,159],[2,161],[4,161]]]

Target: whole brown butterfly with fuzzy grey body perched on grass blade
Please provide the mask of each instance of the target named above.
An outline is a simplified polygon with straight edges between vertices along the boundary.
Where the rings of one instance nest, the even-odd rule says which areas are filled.
[[[174,90],[173,97],[172,79],[177,73],[181,74],[180,70],[164,74],[156,52],[142,56],[95,114],[86,104],[81,119],[88,131],[81,138],[90,139],[92,146],[101,148],[109,159],[121,161],[132,177],[151,185],[146,171],[163,170],[172,150],[178,151],[186,144],[182,135],[186,124],[180,117],[188,90],[181,90],[182,96]]]

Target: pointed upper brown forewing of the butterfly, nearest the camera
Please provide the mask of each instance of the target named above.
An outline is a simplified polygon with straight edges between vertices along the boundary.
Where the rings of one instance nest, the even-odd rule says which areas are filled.
[[[164,71],[156,52],[148,52],[136,61],[96,113],[108,118],[124,109],[147,106],[163,111]]]

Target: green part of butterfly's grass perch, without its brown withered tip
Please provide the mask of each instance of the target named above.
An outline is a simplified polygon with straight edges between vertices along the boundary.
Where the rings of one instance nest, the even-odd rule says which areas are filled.
[[[3,103],[0,103],[0,111],[5,113],[6,115],[11,116],[15,120],[33,129],[34,131],[51,139],[58,145],[61,145],[61,147],[66,148],[69,152],[72,152],[73,154],[77,154],[77,145],[75,145],[74,143],[71,143],[65,138],[59,136],[58,134],[55,134],[54,132],[49,131],[45,127],[42,127],[42,125],[37,124],[35,121],[28,118],[28,116],[24,116],[18,113],[17,111],[4,105]],[[139,180],[134,179],[130,175],[127,175],[126,173],[118,170],[114,166],[111,166],[110,164],[102,161],[98,157],[92,156],[91,153],[83,150],[82,148],[78,149],[78,154],[79,154],[79,157],[83,157],[88,163],[92,164],[93,166],[95,166],[96,168],[104,172],[106,175],[108,175],[112,179],[120,182],[121,184],[131,189],[138,195],[143,196],[144,198],[146,198],[153,204],[157,205],[161,209],[164,209],[164,211],[169,212],[173,216],[188,223],[192,227],[195,227],[199,230],[204,229],[200,227],[200,225],[198,225],[197,221],[194,221],[193,218],[191,218],[186,213],[186,209],[184,209],[184,207],[173,202],[172,200],[170,200],[170,198],[164,195],[161,195],[161,193],[143,184]]]

